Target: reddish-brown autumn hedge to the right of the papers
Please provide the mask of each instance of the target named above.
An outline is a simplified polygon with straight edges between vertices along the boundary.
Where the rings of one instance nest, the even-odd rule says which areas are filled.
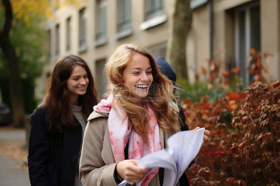
[[[183,101],[189,128],[211,132],[186,172],[191,186],[280,186],[280,81],[264,83],[258,59],[248,68],[255,81],[242,92]]]

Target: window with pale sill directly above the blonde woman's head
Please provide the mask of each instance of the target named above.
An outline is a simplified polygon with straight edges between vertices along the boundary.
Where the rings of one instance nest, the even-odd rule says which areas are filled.
[[[131,0],[118,0],[118,33],[117,39],[132,35]]]

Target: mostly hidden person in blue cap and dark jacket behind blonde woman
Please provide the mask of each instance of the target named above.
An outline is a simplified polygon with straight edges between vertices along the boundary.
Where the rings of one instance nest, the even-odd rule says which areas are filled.
[[[160,71],[161,74],[166,76],[169,80],[172,81],[173,85],[177,88],[181,88],[178,84],[176,84],[176,74],[173,71],[172,67],[169,65],[169,63],[162,57],[156,57],[154,58],[156,65],[158,67],[158,70]],[[181,126],[181,131],[184,130],[189,130],[188,125],[186,124],[185,120],[185,113],[183,111],[183,108],[179,102],[177,102],[177,106],[179,108],[179,115],[180,115],[180,126]],[[188,178],[186,174],[183,174],[181,178],[179,179],[180,186],[188,186]]]

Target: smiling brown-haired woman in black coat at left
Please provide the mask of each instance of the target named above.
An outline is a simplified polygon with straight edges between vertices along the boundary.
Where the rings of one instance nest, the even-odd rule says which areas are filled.
[[[31,186],[82,186],[78,177],[80,149],[86,119],[97,103],[87,63],[74,55],[58,59],[43,101],[31,115]]]

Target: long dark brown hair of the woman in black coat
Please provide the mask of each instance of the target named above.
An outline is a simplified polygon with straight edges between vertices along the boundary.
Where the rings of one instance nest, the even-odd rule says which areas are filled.
[[[46,117],[50,123],[50,129],[54,127],[63,132],[65,127],[72,128],[79,125],[71,111],[70,92],[67,89],[67,80],[77,65],[85,68],[89,79],[87,92],[84,95],[79,95],[78,98],[85,119],[87,119],[93,111],[93,106],[98,102],[93,77],[87,63],[75,55],[59,58],[47,81],[46,93],[41,103],[46,107]]]

